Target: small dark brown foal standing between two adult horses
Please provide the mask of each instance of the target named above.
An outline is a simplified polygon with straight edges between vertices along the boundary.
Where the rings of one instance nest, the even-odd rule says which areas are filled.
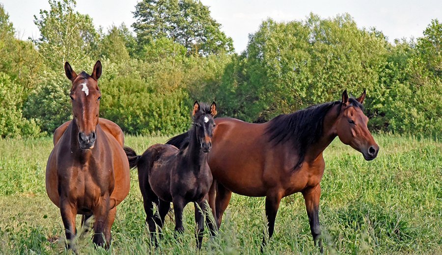
[[[146,223],[152,240],[156,226],[161,228],[169,211],[170,202],[175,213],[175,230],[183,232],[183,208],[193,202],[195,205],[196,245],[201,249],[204,232],[204,214],[208,192],[212,185],[212,174],[207,164],[207,153],[212,148],[212,134],[215,128],[213,117],[217,114],[215,102],[209,107],[195,102],[193,125],[188,131],[188,143],[179,150],[172,145],[155,144],[142,155],[125,147],[129,165],[138,168],[139,188],[143,197]],[[158,205],[159,217],[153,215],[153,204]],[[208,215],[207,224],[212,235],[217,228]]]

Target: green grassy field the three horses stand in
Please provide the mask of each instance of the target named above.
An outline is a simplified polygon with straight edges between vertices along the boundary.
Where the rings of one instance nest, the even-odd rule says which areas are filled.
[[[338,139],[325,151],[320,221],[325,254],[442,254],[442,142],[376,135],[381,147],[370,162]],[[129,136],[138,153],[166,137]],[[58,254],[63,250],[59,209],[45,191],[51,138],[0,140],[0,254]],[[185,233],[174,238],[171,214],[155,250],[144,225],[136,171],[112,227],[114,254],[194,254],[193,205]],[[80,217],[78,217],[79,222]],[[234,195],[217,238],[207,228],[202,254],[258,254],[265,227],[264,198]],[[79,238],[80,253],[107,254]],[[266,254],[315,254],[304,199],[284,198]]]

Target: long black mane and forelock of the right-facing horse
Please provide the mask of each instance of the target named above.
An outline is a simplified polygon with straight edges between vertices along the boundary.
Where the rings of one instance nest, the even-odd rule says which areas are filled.
[[[341,101],[316,104],[294,113],[281,114],[269,121],[266,130],[269,142],[274,145],[291,143],[293,149],[298,150],[299,160],[292,171],[302,166],[307,148],[322,137],[324,117],[337,104],[341,104]],[[362,104],[354,98],[349,98],[348,105],[363,109]]]

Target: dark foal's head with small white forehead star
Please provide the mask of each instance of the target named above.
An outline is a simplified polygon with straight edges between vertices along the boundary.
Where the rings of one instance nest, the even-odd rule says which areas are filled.
[[[192,120],[195,128],[196,140],[203,149],[204,153],[212,149],[212,135],[215,129],[215,120],[217,115],[217,104],[213,102],[210,107],[200,105],[198,101],[193,103]]]

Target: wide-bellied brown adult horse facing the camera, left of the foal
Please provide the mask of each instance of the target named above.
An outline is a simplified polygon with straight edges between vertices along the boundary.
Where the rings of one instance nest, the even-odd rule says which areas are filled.
[[[68,62],[66,77],[72,82],[73,120],[55,130],[54,149],[46,166],[46,191],[60,208],[68,248],[74,250],[75,218],[82,224],[92,215],[93,242],[109,248],[116,206],[129,194],[129,162],[123,151],[124,135],[115,123],[98,117],[102,73],[97,61],[92,75],[77,75]]]

